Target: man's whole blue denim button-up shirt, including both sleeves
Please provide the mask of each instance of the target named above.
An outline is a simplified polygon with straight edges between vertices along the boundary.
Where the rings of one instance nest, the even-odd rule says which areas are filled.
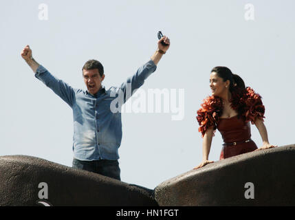
[[[116,107],[120,108],[131,96],[127,94],[128,90],[131,90],[129,94],[133,94],[134,89],[142,86],[156,68],[155,63],[149,61],[120,87],[111,87],[108,90],[102,87],[95,96],[82,89],[73,89],[63,80],[52,76],[42,65],[36,70],[35,76],[73,109],[73,151],[76,159],[119,159],[118,148],[122,140],[121,112],[111,111],[110,107],[116,103]]]

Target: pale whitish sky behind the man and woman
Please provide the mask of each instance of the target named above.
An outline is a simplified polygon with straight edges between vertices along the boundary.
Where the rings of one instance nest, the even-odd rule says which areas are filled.
[[[48,19],[39,19],[45,3]],[[245,5],[254,6],[254,21]],[[21,58],[37,62],[72,87],[85,89],[90,58],[105,67],[105,87],[120,85],[155,52],[157,31],[171,48],[142,89],[184,89],[184,119],[173,113],[124,113],[122,181],[155,188],[201,162],[195,120],[210,95],[212,67],[239,74],[263,97],[271,144],[294,144],[295,1],[1,1],[0,155],[32,155],[72,166],[72,109]],[[252,139],[262,141],[255,126]],[[216,132],[209,159],[218,160]]]

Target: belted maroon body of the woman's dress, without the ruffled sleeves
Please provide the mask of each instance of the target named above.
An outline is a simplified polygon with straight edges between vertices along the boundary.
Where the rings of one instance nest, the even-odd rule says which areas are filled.
[[[224,142],[219,159],[257,149],[255,142],[251,140],[250,122],[245,122],[241,116],[219,118],[217,129],[220,131]]]

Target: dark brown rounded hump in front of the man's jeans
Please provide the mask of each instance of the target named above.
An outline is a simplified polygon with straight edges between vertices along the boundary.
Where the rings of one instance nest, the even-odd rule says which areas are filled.
[[[153,190],[25,155],[0,157],[0,206],[157,206]]]

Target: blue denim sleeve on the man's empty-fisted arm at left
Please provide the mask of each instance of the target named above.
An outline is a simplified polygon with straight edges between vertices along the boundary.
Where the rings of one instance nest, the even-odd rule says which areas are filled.
[[[74,100],[75,100],[75,91],[72,87],[67,85],[67,83],[63,82],[63,80],[60,80],[56,78],[55,76],[52,76],[50,72],[45,69],[42,65],[40,65],[36,69],[35,77],[41,80],[47,87],[52,89],[56,95],[61,97],[67,104],[69,104],[70,107],[73,106]]]

